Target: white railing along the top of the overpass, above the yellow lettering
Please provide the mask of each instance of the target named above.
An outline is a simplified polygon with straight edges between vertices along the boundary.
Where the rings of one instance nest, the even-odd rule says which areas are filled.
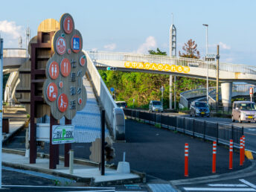
[[[133,62],[148,62],[148,63],[163,63],[184,65],[198,68],[216,69],[216,63],[205,62],[205,60],[189,59],[184,57],[168,57],[160,55],[148,54],[132,54],[121,52],[104,52],[104,51],[89,51],[89,56],[92,60],[119,60]],[[220,71],[230,71],[238,73],[256,74],[256,67],[243,64],[232,64],[220,62]]]

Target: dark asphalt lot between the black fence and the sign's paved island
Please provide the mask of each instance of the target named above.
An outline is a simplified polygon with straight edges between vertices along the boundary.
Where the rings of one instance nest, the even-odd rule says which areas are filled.
[[[129,161],[131,169],[147,173],[148,180],[185,179],[185,143],[189,144],[189,178],[212,175],[212,144],[207,141],[131,120],[126,121],[126,137],[126,143],[114,144],[116,158],[112,162],[117,165],[126,152],[126,161]],[[90,146],[91,144],[72,144],[74,156],[89,159]],[[4,147],[24,150],[25,138],[17,135]],[[45,144],[44,150],[39,151],[48,153],[48,144]],[[63,151],[63,145],[60,145],[60,154]],[[228,149],[217,147],[218,174],[240,170],[249,164],[246,160],[245,166],[239,166],[239,155],[234,153],[234,169],[228,170]]]

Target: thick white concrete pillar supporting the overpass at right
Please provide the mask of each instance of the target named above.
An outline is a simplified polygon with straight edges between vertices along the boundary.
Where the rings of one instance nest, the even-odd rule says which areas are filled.
[[[228,106],[231,106],[232,86],[232,82],[221,83],[221,97],[223,100],[224,109],[226,111],[228,110]]]

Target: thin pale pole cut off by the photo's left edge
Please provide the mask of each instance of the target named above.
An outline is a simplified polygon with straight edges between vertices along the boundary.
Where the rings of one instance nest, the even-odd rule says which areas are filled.
[[[3,110],[3,46],[4,39],[1,39],[0,36],[0,188],[1,188],[1,142],[2,142],[2,110]]]

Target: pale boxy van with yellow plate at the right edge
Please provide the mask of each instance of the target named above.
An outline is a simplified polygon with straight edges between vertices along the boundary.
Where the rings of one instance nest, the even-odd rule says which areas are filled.
[[[256,104],[250,101],[234,101],[232,108],[232,121],[256,121]]]

